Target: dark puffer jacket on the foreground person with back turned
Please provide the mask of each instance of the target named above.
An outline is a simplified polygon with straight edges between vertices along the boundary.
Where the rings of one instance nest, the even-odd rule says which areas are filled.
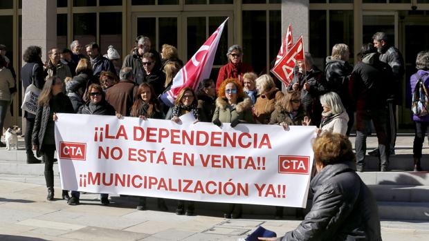
[[[347,161],[322,168],[311,181],[311,210],[277,240],[381,240],[376,200],[355,168]]]

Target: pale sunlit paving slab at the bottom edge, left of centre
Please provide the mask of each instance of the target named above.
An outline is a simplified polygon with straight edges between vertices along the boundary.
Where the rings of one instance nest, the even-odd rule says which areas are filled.
[[[87,226],[83,229],[72,231],[61,235],[63,238],[73,238],[75,240],[100,240],[100,241],[127,241],[127,240],[142,240],[149,236],[146,233],[134,233],[128,231],[120,231],[117,229],[103,229],[96,226]]]

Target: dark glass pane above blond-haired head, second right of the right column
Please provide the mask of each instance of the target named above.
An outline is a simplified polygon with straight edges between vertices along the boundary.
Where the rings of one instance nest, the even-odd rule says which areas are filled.
[[[329,11],[329,53],[335,44],[347,44],[350,50],[354,48],[353,10]],[[350,59],[354,59],[354,53],[350,52]],[[352,60],[349,61],[353,63]]]

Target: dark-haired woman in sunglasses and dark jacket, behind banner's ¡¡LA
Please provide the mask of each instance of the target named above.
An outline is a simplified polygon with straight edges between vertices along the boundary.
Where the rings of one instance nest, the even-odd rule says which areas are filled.
[[[84,104],[79,113],[84,115],[115,115],[115,108],[107,103],[104,97],[103,88],[99,84],[91,84],[88,87],[88,91],[86,91],[86,99],[89,99],[89,101]],[[79,204],[79,198],[80,192],[71,191],[71,198],[67,204],[77,205]],[[102,205],[108,205],[110,203],[109,194],[101,193],[100,202]]]

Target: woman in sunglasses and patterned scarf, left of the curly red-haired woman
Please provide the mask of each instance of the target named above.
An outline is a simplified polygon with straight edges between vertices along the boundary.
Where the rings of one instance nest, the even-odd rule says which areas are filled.
[[[192,90],[192,88],[189,87],[185,87],[183,89],[180,90],[179,95],[177,95],[176,100],[174,101],[174,107],[172,108],[172,121],[179,123],[180,119],[179,117],[181,117],[181,115],[185,115],[188,113],[192,113],[192,115],[194,115],[194,118],[199,121],[199,109],[197,108],[198,106],[198,99],[197,99],[197,95],[195,95],[194,90]],[[186,204],[188,204],[186,206]],[[176,209],[176,214],[177,215],[188,215],[188,216],[192,216],[194,215],[194,204],[195,202],[193,201],[183,201],[183,200],[179,200],[178,204],[177,204],[177,209]],[[186,206],[186,211],[185,211],[185,206]]]

